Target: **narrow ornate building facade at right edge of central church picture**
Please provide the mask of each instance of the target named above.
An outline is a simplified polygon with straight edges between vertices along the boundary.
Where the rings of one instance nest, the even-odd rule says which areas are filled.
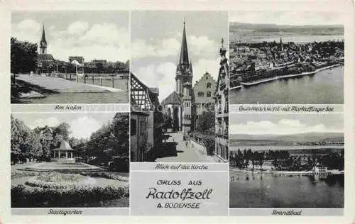
[[[221,162],[229,159],[229,65],[226,59],[226,49],[223,46],[219,50],[221,61],[219,62],[219,74],[215,91],[215,155]]]

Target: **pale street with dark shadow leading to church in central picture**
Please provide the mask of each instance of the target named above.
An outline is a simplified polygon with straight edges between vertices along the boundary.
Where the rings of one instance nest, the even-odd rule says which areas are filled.
[[[160,148],[160,153],[155,162],[216,162],[213,157],[207,156],[202,147],[194,144],[185,145],[182,140],[182,133],[168,133],[170,137],[166,140],[165,147]]]

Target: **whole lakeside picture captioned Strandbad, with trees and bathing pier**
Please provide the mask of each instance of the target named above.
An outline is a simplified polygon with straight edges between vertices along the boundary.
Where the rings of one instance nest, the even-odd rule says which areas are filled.
[[[231,114],[231,208],[344,208],[342,114]]]

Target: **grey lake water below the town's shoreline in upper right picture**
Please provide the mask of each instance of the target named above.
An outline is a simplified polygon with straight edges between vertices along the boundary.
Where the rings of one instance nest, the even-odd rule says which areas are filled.
[[[231,104],[344,103],[344,67],[231,90],[229,99]]]

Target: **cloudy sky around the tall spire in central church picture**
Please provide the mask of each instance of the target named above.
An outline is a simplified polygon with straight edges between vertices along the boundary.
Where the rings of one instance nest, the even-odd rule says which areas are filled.
[[[159,87],[159,101],[175,91],[183,21],[195,84],[205,72],[217,81],[219,48],[228,49],[226,11],[133,11],[131,71],[149,87]]]

